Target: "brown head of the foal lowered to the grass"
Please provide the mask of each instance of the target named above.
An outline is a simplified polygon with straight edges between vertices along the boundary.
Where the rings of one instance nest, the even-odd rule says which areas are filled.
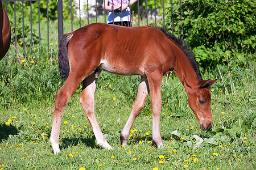
[[[212,113],[210,112],[210,91],[209,87],[216,80],[203,80],[187,91],[188,104],[194,112],[202,130],[212,128]]]

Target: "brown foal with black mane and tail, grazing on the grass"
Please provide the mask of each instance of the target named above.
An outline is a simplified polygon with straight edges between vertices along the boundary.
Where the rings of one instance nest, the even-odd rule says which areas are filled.
[[[59,133],[63,111],[69,98],[82,82],[80,103],[92,126],[98,145],[112,149],[94,114],[94,92],[101,70],[119,75],[141,75],[137,97],[130,117],[121,132],[121,145],[135,118],[151,93],[152,141],[163,147],[159,130],[162,107],[161,83],[164,74],[173,70],[185,87],[188,104],[202,130],[212,128],[209,86],[216,80],[203,80],[195,55],[189,46],[166,31],[154,27],[120,27],[94,23],[63,36],[59,45],[59,70],[68,77],[56,94],[50,143],[60,152]]]

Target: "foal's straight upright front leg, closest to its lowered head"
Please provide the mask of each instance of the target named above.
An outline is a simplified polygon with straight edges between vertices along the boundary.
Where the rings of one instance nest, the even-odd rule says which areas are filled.
[[[147,75],[148,84],[150,87],[151,111],[152,111],[152,141],[159,148],[163,148],[163,143],[160,135],[159,117],[162,108],[161,99],[161,84],[163,74],[160,70],[155,70]]]

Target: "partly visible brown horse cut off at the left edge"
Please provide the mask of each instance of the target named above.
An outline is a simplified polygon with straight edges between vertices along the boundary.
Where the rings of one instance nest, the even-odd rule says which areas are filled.
[[[5,56],[11,44],[11,25],[0,0],[0,60]]]

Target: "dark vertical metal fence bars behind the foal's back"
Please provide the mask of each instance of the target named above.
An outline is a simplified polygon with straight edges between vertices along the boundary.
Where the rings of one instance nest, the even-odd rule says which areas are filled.
[[[31,46],[34,46],[34,39],[33,39],[33,27],[38,27],[38,43],[39,45],[41,44],[41,39],[42,39],[42,26],[40,25],[40,1],[44,1],[47,3],[47,6],[46,6],[46,10],[47,10],[47,46],[48,46],[48,49],[49,49],[49,24],[51,24],[51,20],[49,19],[49,1],[56,1],[56,0],[3,0],[2,3],[3,3],[3,7],[5,7],[6,9],[6,12],[7,14],[9,15],[9,18],[14,18],[14,25],[11,25],[11,27],[14,27],[14,43],[15,43],[15,48],[16,48],[16,45],[17,45],[17,29],[16,29],[16,12],[17,10],[21,10],[20,8],[16,8],[16,4],[19,3],[22,3],[22,24],[23,24],[23,27],[22,27],[22,39],[23,39],[23,49],[25,48],[25,40],[24,40],[24,20],[28,20],[28,18],[30,19],[30,44]],[[79,26],[82,27],[82,24],[81,24],[81,19],[84,19],[81,17],[81,7],[83,7],[82,5],[85,5],[86,7],[86,14],[85,14],[85,20],[87,20],[87,23],[84,23],[84,25],[86,24],[89,24],[89,23],[93,23],[93,22],[99,22],[98,18],[102,16],[104,17],[104,22],[106,23],[106,18],[108,17],[108,12],[106,10],[104,10],[101,6],[100,6],[100,3],[97,2],[97,0],[93,0],[93,1],[88,1],[88,0],[83,0],[84,3],[81,3],[82,0],[71,0],[70,1],[70,7],[71,7],[71,31],[73,31],[73,22],[74,22],[74,18],[73,18],[73,6],[76,5],[76,2],[78,3],[77,5],[77,8],[78,8],[78,11],[79,11]],[[24,2],[30,2],[30,16],[24,16]],[[38,3],[36,3],[38,2]],[[129,0],[130,2],[130,0]],[[160,16],[161,18],[163,18],[163,25],[165,27],[165,16],[164,16],[164,5],[165,5],[165,1],[164,0],[154,0],[154,9],[152,10],[150,8],[150,6],[148,6],[148,1],[146,0],[145,1],[145,6],[141,6],[139,5],[140,2],[143,2],[142,0],[137,0],[137,2],[134,3],[133,6],[136,6],[136,3],[137,3],[137,7],[138,7],[138,17],[137,17],[137,20],[135,21],[137,23],[138,26],[140,25],[143,25],[143,23],[141,22],[141,11],[140,10],[145,10],[146,12],[146,25],[148,25],[149,23],[149,19],[152,19],[154,20],[154,23],[156,24],[157,22],[157,16],[158,16],[158,9],[156,8],[156,2],[158,3],[162,3],[162,8],[163,8],[163,15]],[[5,4],[4,4],[5,3]],[[92,16],[90,15],[90,12],[92,11],[89,11],[89,4],[90,3],[94,3],[94,8],[95,8],[95,11],[96,12],[96,15],[93,16],[93,19],[90,20],[92,18]],[[171,1],[172,3],[172,1]],[[32,8],[35,10],[35,6],[38,6],[38,9],[37,11],[32,11]],[[172,5],[172,4],[171,4]],[[180,0],[180,6],[181,6],[181,0]],[[12,8],[11,10],[13,10],[14,12],[14,16],[10,16],[10,12],[9,12],[9,9],[8,8]],[[100,11],[101,10],[101,14],[100,14]],[[38,25],[33,25],[33,22],[32,20],[35,20],[35,18],[32,18],[32,13],[35,14],[36,12],[38,12]],[[133,16],[133,14],[131,14]],[[181,17],[181,14],[180,14],[180,17]],[[57,1],[57,20],[58,20],[58,38],[60,40],[61,36],[63,35],[63,0],[58,0]],[[20,30],[18,30],[20,31]],[[172,18],[172,32],[174,31],[174,22],[173,22],[173,18]]]

